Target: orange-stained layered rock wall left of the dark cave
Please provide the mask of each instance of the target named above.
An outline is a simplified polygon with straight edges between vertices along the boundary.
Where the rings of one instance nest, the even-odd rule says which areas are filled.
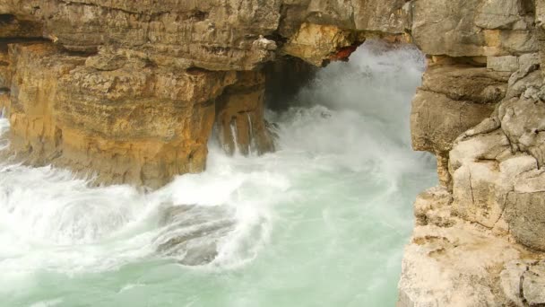
[[[51,44],[11,45],[12,150],[32,164],[157,188],[203,171],[214,98],[232,72],[176,71],[123,60],[98,70]],[[87,63],[87,64],[86,64]]]

